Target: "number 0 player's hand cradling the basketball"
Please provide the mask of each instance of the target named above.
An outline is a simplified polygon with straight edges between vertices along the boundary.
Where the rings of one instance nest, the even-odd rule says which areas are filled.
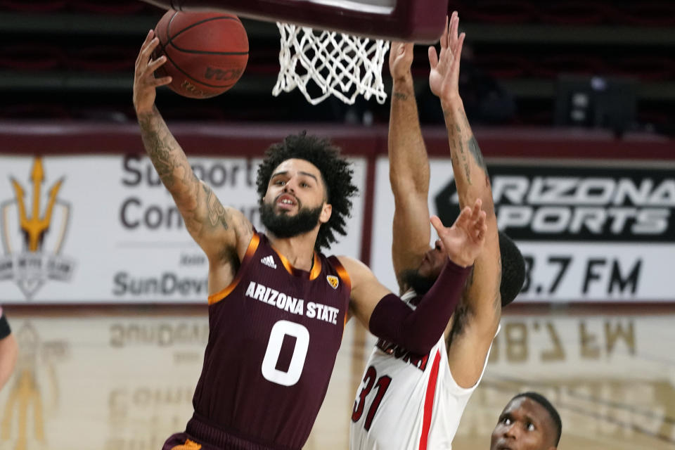
[[[141,51],[136,58],[136,71],[134,72],[134,108],[136,114],[149,113],[155,104],[155,89],[171,82],[171,77],[155,78],[154,72],[167,61],[166,56],[152,59],[153,51],[160,43],[155,37],[155,32],[150,30],[143,41]]]

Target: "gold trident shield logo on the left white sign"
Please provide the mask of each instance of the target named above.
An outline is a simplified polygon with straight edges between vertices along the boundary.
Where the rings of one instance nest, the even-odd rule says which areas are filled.
[[[0,281],[15,281],[28,300],[46,281],[70,281],[75,269],[72,259],[60,255],[70,219],[70,204],[58,198],[64,179],[49,188],[44,207],[41,158],[35,158],[30,180],[30,204],[26,203],[24,187],[13,177],[14,198],[0,199],[0,240],[4,249],[4,255],[0,255]]]

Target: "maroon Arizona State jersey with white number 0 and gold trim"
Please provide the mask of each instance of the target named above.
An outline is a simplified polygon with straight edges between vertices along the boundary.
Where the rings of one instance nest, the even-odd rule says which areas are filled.
[[[311,271],[298,270],[254,233],[234,281],[209,297],[195,418],[272,449],[302,448],[326,396],[350,290],[337,258],[315,253]]]

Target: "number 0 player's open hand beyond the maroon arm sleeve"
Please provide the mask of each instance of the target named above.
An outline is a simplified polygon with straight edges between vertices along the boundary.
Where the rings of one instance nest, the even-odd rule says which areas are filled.
[[[431,218],[448,256],[458,266],[472,265],[483,249],[487,223],[481,206],[482,201],[478,198],[473,208],[464,207],[450,228],[444,227],[438,216]]]

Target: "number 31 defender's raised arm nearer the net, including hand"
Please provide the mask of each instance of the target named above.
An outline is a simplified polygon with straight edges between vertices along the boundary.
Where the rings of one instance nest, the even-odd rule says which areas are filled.
[[[389,119],[389,179],[394,193],[392,261],[399,286],[401,274],[417,269],[431,238],[429,160],[415,100],[413,43],[392,42],[389,68],[393,78]]]

